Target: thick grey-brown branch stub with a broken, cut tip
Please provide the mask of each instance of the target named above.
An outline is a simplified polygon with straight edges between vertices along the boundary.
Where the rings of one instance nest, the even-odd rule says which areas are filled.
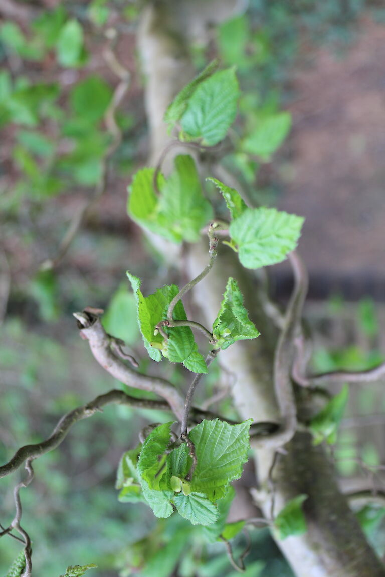
[[[84,310],[83,313],[74,313],[74,315],[78,319],[80,335],[88,339],[91,352],[103,369],[106,369],[121,383],[162,396],[167,400],[177,418],[182,418],[184,398],[170,381],[138,373],[117,357],[111,350],[111,337],[107,335],[96,314]]]

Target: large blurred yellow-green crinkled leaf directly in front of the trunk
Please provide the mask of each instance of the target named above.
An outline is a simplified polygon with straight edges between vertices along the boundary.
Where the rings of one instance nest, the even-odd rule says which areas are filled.
[[[134,176],[128,213],[144,228],[172,242],[196,242],[212,218],[212,208],[203,196],[192,157],[178,155],[174,165],[167,180],[159,175],[159,196],[154,191],[154,169],[143,168]]]

